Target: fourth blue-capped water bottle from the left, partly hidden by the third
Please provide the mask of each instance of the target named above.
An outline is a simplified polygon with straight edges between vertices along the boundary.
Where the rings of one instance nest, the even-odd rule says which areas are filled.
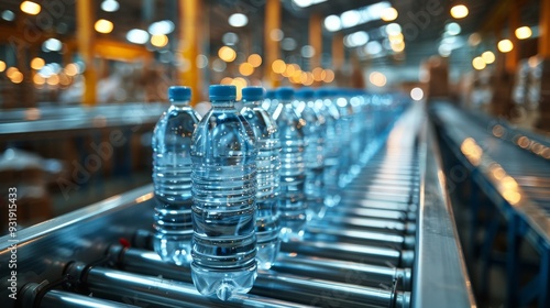
[[[306,228],[307,204],[305,198],[306,170],[304,163],[304,121],[293,108],[294,90],[279,88],[276,92],[278,105],[273,112],[280,140],[280,240],[301,240]]]

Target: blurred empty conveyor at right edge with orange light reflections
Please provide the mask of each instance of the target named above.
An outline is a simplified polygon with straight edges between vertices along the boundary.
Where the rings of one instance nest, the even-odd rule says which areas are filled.
[[[550,305],[550,173],[548,158],[541,153],[520,146],[519,138],[528,136],[535,143],[544,144],[542,138],[516,131],[502,120],[475,116],[452,107],[447,101],[435,101],[430,113],[440,127],[440,134],[454,157],[465,166],[475,182],[470,200],[473,221],[469,239],[470,253],[475,250],[475,234],[481,205],[477,191],[483,191],[493,202],[496,212],[506,220],[506,245],[504,266],[506,271],[506,305],[525,306],[537,299],[538,307]],[[497,131],[495,131],[495,128]],[[465,144],[480,151],[470,152]],[[548,142],[546,143],[548,146]],[[514,155],[514,157],[512,157]],[[514,164],[518,162],[518,164]],[[542,194],[540,194],[542,191]],[[539,194],[539,195],[537,195]],[[519,198],[517,198],[519,196]],[[481,288],[486,287],[491,266],[491,246],[501,222],[497,218],[486,222],[483,250],[481,252],[484,273]],[[521,241],[528,240],[540,254],[537,276],[520,286]],[[473,256],[472,256],[473,257]]]

